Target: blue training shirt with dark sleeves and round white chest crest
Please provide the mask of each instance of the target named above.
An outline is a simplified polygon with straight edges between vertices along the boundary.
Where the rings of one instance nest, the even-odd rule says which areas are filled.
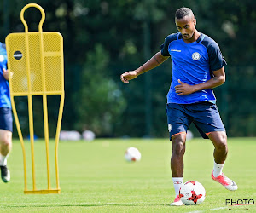
[[[216,102],[212,89],[204,89],[189,95],[177,95],[175,86],[180,79],[183,83],[195,85],[205,83],[227,63],[211,37],[201,33],[193,43],[185,43],[180,32],[166,37],[161,45],[161,54],[172,58],[172,83],[167,103],[190,104],[200,101]]]

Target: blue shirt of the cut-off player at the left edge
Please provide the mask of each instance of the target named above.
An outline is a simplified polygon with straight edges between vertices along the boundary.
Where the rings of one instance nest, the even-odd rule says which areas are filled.
[[[7,53],[5,44],[0,42],[0,107],[11,108],[9,83],[3,77],[3,68],[7,70]]]

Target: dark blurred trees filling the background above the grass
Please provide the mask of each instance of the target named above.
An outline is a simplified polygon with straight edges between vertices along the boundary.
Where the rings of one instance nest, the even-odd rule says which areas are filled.
[[[253,81],[256,72],[253,60],[256,48],[255,1],[34,2],[40,4],[46,13],[44,31],[61,32],[64,37],[66,99],[62,130],[90,129],[98,136],[144,136],[149,121],[152,123],[150,135],[167,136],[165,108],[171,82],[171,60],[128,85],[120,82],[119,75],[141,66],[151,57],[149,55],[160,50],[165,37],[177,32],[175,11],[186,6],[195,13],[197,29],[218,42],[228,61],[227,82],[214,89],[228,133],[234,136],[256,135],[252,131],[256,128],[253,109],[248,111],[246,107],[251,105],[253,108],[252,98],[241,91],[252,91],[256,87]],[[10,32],[24,32],[20,10],[26,3],[29,1],[1,1],[2,42]],[[31,31],[37,31],[40,18],[37,9],[28,9],[25,19]],[[148,30],[145,30],[145,25]],[[244,82],[242,78],[247,76],[250,78]],[[252,85],[250,90],[247,90],[248,84]],[[147,95],[151,97],[149,103],[152,106],[149,114],[146,114]],[[238,112],[234,107],[234,95],[240,101]],[[24,103],[20,101],[20,105],[24,106]],[[26,109],[23,107],[21,110]],[[54,101],[49,103],[49,112],[57,112]],[[147,118],[148,115],[151,119]],[[247,125],[241,124],[241,118],[246,118],[245,123],[250,124],[248,130],[244,130]],[[55,115],[49,119],[55,124]]]

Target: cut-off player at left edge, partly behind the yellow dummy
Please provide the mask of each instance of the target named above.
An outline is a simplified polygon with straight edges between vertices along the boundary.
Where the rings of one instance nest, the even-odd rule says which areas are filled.
[[[4,182],[10,180],[7,158],[12,147],[13,131],[8,79],[6,48],[0,43],[0,170]]]

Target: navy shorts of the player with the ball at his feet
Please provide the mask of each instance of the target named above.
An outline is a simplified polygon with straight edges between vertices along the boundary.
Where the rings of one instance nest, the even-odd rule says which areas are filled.
[[[169,103],[166,107],[170,140],[173,135],[187,132],[191,123],[195,124],[203,138],[208,138],[213,131],[225,131],[218,107],[211,102],[193,104]]]

